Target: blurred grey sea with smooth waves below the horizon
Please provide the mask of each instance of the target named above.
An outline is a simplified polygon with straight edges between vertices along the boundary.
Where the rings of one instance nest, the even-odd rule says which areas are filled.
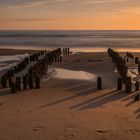
[[[129,30],[10,30],[0,31],[0,48],[55,49],[101,52],[108,48],[140,52],[140,31]]]

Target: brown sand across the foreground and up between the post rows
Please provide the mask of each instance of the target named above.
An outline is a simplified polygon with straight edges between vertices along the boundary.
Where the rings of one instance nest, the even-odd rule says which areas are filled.
[[[91,57],[103,61],[88,62]],[[140,139],[140,102],[134,102],[136,93],[116,91],[119,75],[108,56],[68,56],[54,67],[41,89],[0,96],[0,140]],[[62,77],[57,68],[69,76]],[[97,91],[95,79],[79,79],[77,71],[101,76],[104,88]]]

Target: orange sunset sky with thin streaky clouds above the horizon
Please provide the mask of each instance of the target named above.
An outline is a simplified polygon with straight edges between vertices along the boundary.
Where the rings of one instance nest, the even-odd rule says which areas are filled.
[[[140,30],[140,0],[0,0],[1,30]]]

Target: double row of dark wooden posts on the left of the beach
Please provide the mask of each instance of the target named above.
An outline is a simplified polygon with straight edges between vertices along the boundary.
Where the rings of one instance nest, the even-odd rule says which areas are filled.
[[[30,61],[36,62],[28,69],[28,72],[25,75],[22,75],[22,77],[16,76],[27,67]],[[2,87],[11,88],[11,93],[15,93],[21,89],[40,88],[40,78],[46,73],[48,66],[52,65],[52,63],[56,61],[62,61],[60,48],[51,52],[40,51],[31,54],[29,57],[26,57],[22,62],[10,68],[5,74],[3,74],[1,77]]]

